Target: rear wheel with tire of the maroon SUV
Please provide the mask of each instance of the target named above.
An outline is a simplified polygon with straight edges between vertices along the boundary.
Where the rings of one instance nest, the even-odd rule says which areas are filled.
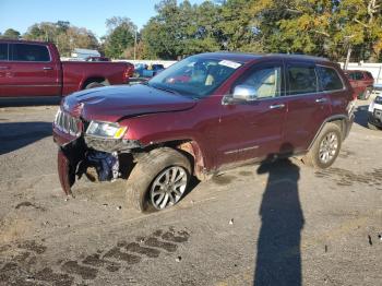
[[[339,127],[335,123],[326,123],[302,162],[315,168],[327,168],[338,156],[341,143]]]

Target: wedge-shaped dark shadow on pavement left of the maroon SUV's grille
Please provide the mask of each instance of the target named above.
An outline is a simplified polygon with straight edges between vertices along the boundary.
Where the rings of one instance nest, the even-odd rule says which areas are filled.
[[[48,122],[0,122],[0,155],[51,135]]]

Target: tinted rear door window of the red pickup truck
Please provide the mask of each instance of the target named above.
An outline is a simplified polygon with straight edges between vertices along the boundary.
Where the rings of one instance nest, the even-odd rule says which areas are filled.
[[[12,44],[12,61],[50,61],[48,48],[41,45]]]

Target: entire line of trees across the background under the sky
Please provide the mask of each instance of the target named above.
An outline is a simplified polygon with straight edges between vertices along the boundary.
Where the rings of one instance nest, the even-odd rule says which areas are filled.
[[[34,24],[24,35],[10,28],[1,37],[50,40],[63,56],[76,47],[130,59],[231,50],[382,60],[382,0],[163,0],[155,11],[140,31],[129,17],[108,19],[99,39],[65,21]]]

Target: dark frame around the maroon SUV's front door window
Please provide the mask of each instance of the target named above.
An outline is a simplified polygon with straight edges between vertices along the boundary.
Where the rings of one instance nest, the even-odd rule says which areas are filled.
[[[261,69],[266,69],[266,68],[275,68],[275,67],[279,67],[280,68],[280,92],[279,92],[279,96],[275,96],[275,97],[264,97],[264,98],[258,98],[258,100],[270,100],[270,99],[275,99],[275,98],[279,98],[283,97],[285,95],[285,63],[284,60],[279,60],[279,61],[264,61],[264,62],[259,62],[259,63],[254,63],[252,67],[250,67],[247,71],[243,72],[243,74],[241,74],[230,86],[229,88],[229,93],[232,93],[235,86],[239,85],[240,83],[242,83],[246,79],[248,79],[248,76],[250,74],[252,74],[253,72],[261,70]]]

